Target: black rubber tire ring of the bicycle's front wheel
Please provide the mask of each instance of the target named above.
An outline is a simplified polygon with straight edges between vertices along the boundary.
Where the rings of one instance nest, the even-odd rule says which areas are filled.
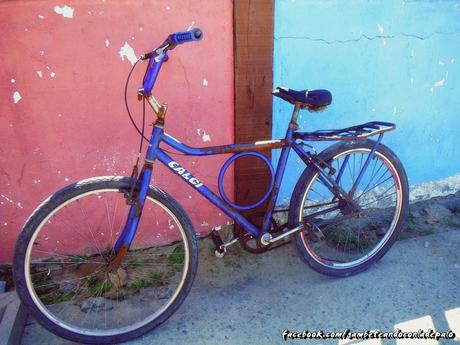
[[[41,308],[35,302],[32,296],[33,293],[29,290],[26,279],[26,253],[34,233],[37,229],[40,231],[40,224],[47,219],[47,216],[53,212],[53,210],[59,208],[72,198],[78,197],[84,193],[104,189],[118,189],[120,192],[127,192],[130,190],[133,182],[134,180],[128,177],[96,177],[69,185],[45,200],[26,221],[19,235],[16,243],[13,266],[17,293],[27,310],[35,319],[43,327],[60,337],[89,344],[112,344],[137,338],[165,322],[179,308],[190,292],[198,265],[198,245],[193,225],[182,207],[171,196],[158,187],[150,186],[148,197],[153,198],[153,200],[165,206],[176,217],[185,232],[189,249],[188,269],[185,274],[185,280],[183,280],[180,291],[175,295],[173,302],[169,304],[160,315],[155,317],[155,319],[139,328],[104,336],[82,334],[68,327],[62,327],[60,324],[50,319],[49,315],[42,312]]]

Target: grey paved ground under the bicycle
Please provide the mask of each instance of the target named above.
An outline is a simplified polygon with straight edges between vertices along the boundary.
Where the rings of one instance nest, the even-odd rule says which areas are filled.
[[[284,329],[456,327],[460,336],[459,200],[456,195],[411,205],[407,227],[388,254],[369,270],[345,279],[309,269],[291,245],[261,255],[235,246],[218,259],[209,239],[201,240],[198,274],[183,306],[131,344],[284,344]],[[30,319],[23,344],[37,343],[71,344]],[[430,342],[438,343],[452,341]]]

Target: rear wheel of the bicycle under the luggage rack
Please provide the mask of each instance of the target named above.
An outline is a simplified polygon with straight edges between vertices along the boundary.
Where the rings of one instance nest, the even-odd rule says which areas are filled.
[[[406,173],[383,144],[377,147],[356,191],[350,193],[374,145],[373,140],[338,143],[321,153],[335,169],[332,178],[340,181],[357,207],[339,201],[314,169],[307,168],[297,182],[290,226],[301,222],[319,226],[296,234],[293,243],[303,260],[322,274],[344,277],[363,271],[389,250],[404,226],[408,211]]]

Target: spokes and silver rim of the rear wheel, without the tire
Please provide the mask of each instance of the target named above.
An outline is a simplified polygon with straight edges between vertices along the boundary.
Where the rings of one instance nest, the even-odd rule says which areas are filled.
[[[345,192],[356,183],[370,152],[371,148],[347,150],[328,161],[336,168],[335,174],[346,172],[339,181]],[[359,195],[353,200],[356,206],[334,199],[318,175],[312,177],[313,182],[306,182],[310,188],[302,199],[302,219],[316,219],[314,223],[324,235],[323,240],[313,234],[299,235],[308,256],[322,266],[342,270],[366,264],[381,249],[396,226],[393,220],[400,212],[397,205],[401,202],[401,192],[395,188],[395,176],[388,166],[388,158],[377,150],[360,180],[364,188],[359,188]],[[318,195],[320,200],[314,200]]]

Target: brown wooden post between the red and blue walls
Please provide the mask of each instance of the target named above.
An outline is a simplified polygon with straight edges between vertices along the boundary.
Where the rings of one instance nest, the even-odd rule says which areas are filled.
[[[234,1],[235,142],[272,136],[273,0]],[[271,152],[263,152],[271,158]],[[235,162],[235,201],[245,205],[262,197],[269,184],[264,163]],[[261,207],[245,212],[250,216]]]

